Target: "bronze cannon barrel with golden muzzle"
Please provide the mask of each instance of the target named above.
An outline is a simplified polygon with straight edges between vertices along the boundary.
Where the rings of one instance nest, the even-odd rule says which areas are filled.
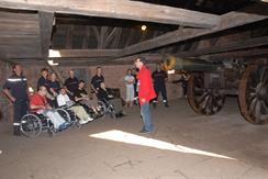
[[[212,64],[203,59],[176,58],[171,55],[164,57],[165,70],[186,70],[186,71],[219,71],[222,68],[221,64]]]

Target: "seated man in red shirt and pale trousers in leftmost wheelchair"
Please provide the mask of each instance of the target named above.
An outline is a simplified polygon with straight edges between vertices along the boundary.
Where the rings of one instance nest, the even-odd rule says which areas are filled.
[[[37,93],[33,94],[30,100],[31,112],[43,114],[54,125],[55,130],[64,130],[69,126],[69,123],[63,119],[58,112],[52,109],[46,100],[47,89],[45,86],[40,86]]]

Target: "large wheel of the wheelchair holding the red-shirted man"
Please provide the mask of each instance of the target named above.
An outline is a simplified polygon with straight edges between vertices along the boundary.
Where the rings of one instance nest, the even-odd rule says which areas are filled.
[[[21,119],[20,130],[27,137],[37,137],[42,132],[42,122],[35,114],[25,114]]]

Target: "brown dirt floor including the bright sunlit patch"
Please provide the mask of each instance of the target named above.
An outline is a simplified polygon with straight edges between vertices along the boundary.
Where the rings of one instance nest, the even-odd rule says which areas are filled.
[[[235,98],[213,116],[186,100],[152,109],[153,134],[139,134],[139,109],[53,138],[12,136],[0,123],[0,179],[265,179],[268,125],[243,120]]]

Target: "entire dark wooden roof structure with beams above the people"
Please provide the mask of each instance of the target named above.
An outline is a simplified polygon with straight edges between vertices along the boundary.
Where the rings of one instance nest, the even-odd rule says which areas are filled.
[[[109,65],[139,54],[153,61],[165,53],[208,60],[267,57],[267,18],[266,0],[1,0],[0,60]]]

